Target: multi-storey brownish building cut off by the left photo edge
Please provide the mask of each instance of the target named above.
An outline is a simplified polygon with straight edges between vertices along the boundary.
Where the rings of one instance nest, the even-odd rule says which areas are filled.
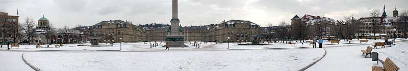
[[[10,16],[8,13],[0,12],[0,43],[5,44],[6,41],[18,43],[18,16]]]

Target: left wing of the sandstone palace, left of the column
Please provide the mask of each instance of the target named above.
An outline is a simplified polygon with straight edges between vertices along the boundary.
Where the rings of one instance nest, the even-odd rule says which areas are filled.
[[[92,26],[101,43],[147,41],[147,32],[141,26],[121,20],[102,21]],[[123,40],[120,41],[119,38]]]

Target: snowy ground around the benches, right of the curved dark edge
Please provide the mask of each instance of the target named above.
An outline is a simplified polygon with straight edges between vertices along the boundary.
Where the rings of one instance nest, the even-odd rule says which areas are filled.
[[[384,39],[369,39],[368,44],[343,44],[343,45],[324,45],[327,54],[315,65],[307,70],[371,70],[371,66],[382,66],[377,61],[371,61],[371,58],[364,58],[360,50],[365,50],[367,46],[374,45],[371,42],[384,42]],[[408,42],[406,39],[397,39],[397,45],[391,48],[373,49],[372,52],[379,52],[379,58],[385,60],[386,57],[391,59],[401,68],[407,70],[408,63]],[[370,57],[370,56],[367,56]],[[405,69],[403,69],[405,68]]]

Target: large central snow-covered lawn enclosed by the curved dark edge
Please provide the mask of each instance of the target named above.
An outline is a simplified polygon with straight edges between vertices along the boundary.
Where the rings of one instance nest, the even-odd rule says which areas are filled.
[[[172,52],[27,52],[41,70],[299,70],[323,49]]]

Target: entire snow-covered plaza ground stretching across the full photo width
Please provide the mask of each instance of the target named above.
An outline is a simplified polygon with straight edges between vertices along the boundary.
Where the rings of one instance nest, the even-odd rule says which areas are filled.
[[[10,50],[3,45],[0,70],[370,70],[382,63],[376,64],[369,56],[361,55],[360,50],[381,41],[384,40],[341,40],[339,44],[324,41],[323,48],[299,41],[295,45],[229,43],[229,48],[228,43],[201,43],[198,48],[186,42],[189,47],[172,47],[168,51],[161,47],[164,44],[150,48],[148,42],[114,43],[108,47],[20,45]],[[381,60],[391,58],[400,70],[408,70],[407,43],[407,39],[399,38],[396,45],[372,52],[378,52]]]

